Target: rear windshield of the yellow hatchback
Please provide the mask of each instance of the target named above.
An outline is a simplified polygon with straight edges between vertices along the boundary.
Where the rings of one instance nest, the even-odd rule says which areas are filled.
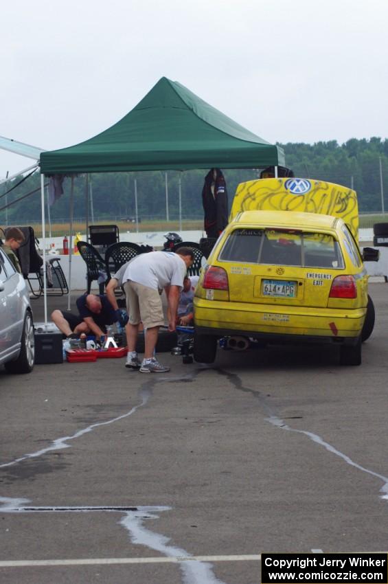
[[[227,262],[343,269],[333,236],[292,229],[235,229],[219,259]]]

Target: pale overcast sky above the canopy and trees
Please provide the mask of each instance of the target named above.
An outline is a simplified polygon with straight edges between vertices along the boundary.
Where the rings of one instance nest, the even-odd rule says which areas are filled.
[[[163,76],[269,142],[388,137],[388,0],[6,0],[0,136],[45,150]],[[31,161],[0,150],[0,177]]]

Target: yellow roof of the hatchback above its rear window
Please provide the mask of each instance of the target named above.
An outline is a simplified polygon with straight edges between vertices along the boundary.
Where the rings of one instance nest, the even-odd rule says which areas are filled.
[[[294,211],[244,211],[239,213],[234,220],[229,223],[242,223],[247,225],[260,225],[261,227],[316,227],[321,229],[332,229],[336,221],[341,221],[332,215],[321,215],[318,213],[299,213]],[[342,223],[342,221],[341,221]]]

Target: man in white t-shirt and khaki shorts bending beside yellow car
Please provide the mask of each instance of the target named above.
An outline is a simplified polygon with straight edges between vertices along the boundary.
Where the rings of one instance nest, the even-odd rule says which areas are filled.
[[[192,266],[194,254],[190,247],[180,247],[176,254],[171,251],[150,251],[131,260],[122,281],[126,293],[128,355],[126,367],[139,369],[141,373],[166,372],[154,357],[159,327],[164,324],[161,292],[166,290],[168,300],[168,330],[176,326],[179,295],[187,268]],[[136,352],[140,322],[144,325],[144,359]]]

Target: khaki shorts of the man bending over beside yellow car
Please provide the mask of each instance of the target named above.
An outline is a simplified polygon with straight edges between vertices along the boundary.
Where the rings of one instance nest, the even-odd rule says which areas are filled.
[[[163,326],[163,306],[157,290],[128,280],[124,284],[124,291],[130,324],[142,322],[144,328]]]

